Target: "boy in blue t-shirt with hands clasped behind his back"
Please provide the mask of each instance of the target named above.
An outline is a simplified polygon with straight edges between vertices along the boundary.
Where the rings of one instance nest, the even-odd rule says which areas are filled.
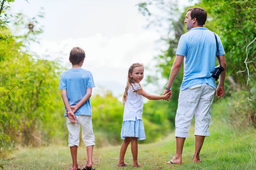
[[[69,57],[72,68],[62,73],[59,85],[65,105],[64,116],[67,116],[68,146],[73,160],[72,170],[81,170],[77,162],[80,126],[82,127],[82,139],[86,146],[88,157],[87,164],[82,170],[93,170],[92,156],[95,138],[91,118],[90,96],[95,85],[91,72],[81,68],[84,59],[85,53],[82,48],[72,48]]]

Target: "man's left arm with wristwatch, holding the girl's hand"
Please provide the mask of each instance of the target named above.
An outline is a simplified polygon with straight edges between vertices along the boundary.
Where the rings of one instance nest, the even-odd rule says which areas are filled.
[[[184,56],[181,56],[181,55],[176,56],[176,58],[173,62],[173,65],[172,65],[172,70],[171,70],[171,73],[170,73],[170,76],[169,76],[168,83],[166,85],[167,88],[172,87],[172,84],[173,84],[174,80],[176,79],[177,75],[180,72],[180,68],[181,68],[183,59],[184,59]],[[169,90],[165,90],[163,92],[163,95],[167,94],[168,92],[169,92]],[[171,97],[172,97],[172,93],[170,94],[169,99],[171,99]]]

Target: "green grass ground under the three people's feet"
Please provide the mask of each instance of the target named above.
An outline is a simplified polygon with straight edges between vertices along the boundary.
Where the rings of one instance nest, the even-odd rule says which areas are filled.
[[[128,166],[116,167],[121,144],[95,148],[93,167],[96,170],[256,170],[256,129],[232,127],[227,121],[228,109],[225,107],[228,106],[218,104],[218,108],[212,111],[215,114],[212,114],[211,136],[205,139],[201,163],[192,163],[195,138],[194,128],[191,127],[190,137],[184,144],[181,165],[165,164],[175,155],[175,137],[171,133],[155,143],[139,144],[138,161],[143,165],[140,168],[132,167],[130,146],[125,155]],[[86,158],[86,148],[81,142],[78,150],[80,167],[85,165]],[[22,147],[1,159],[0,164],[6,170],[69,170],[72,159],[69,147],[50,145],[40,148]]]

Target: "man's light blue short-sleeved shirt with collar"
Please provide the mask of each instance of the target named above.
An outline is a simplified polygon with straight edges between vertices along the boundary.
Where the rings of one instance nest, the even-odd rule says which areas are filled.
[[[217,35],[219,55],[224,48]],[[180,90],[198,84],[208,84],[216,89],[212,74],[215,72],[215,59],[218,54],[215,36],[207,28],[192,28],[180,37],[176,55],[184,56],[184,76]]]

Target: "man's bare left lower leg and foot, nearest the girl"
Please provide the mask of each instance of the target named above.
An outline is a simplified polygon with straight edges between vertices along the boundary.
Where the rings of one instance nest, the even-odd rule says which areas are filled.
[[[186,138],[180,138],[176,137],[176,154],[172,158],[171,161],[166,162],[166,164],[182,164],[182,151],[183,151],[183,146]]]

